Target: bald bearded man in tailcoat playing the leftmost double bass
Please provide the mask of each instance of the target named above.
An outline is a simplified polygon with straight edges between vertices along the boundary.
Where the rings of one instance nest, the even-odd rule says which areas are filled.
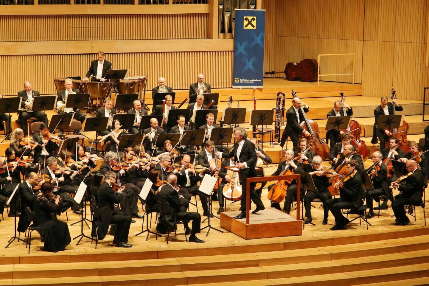
[[[308,112],[308,105],[305,104],[304,102],[301,102],[301,99],[299,99],[298,97],[295,97],[294,99],[292,99],[292,106],[286,111],[286,127],[283,130],[283,134],[281,135],[281,147],[284,146],[284,143],[287,140],[287,137],[290,138],[290,140],[293,143],[293,148],[298,148],[298,140],[299,137],[304,136],[304,137],[309,137],[310,133],[305,130],[304,128],[302,128],[301,126],[299,126],[299,123],[301,123],[302,121],[304,121],[304,114],[302,114],[301,111],[301,107],[302,105],[304,105],[304,107],[302,108],[304,110],[305,113]]]

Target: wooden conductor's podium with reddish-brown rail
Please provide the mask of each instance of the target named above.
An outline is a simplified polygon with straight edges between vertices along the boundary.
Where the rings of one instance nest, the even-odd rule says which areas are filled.
[[[226,167],[227,169],[229,167]],[[233,170],[232,170],[233,171]],[[298,189],[296,197],[300,198],[301,176],[271,176],[247,179],[246,218],[235,219],[240,211],[221,213],[221,227],[245,239],[273,238],[282,236],[302,235],[302,220],[300,220],[300,204],[296,204],[296,218],[275,208],[266,208],[256,214],[250,213],[250,183],[296,179]]]

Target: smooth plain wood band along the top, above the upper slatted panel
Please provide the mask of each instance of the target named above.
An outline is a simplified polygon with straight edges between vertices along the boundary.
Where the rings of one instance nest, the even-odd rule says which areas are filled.
[[[208,4],[186,5],[2,5],[0,15],[200,14]]]

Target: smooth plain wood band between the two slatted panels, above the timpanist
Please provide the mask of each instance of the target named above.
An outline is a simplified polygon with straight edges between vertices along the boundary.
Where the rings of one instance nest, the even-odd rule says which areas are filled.
[[[234,44],[232,39],[0,42],[2,55],[94,54],[101,50],[105,53],[233,51]]]

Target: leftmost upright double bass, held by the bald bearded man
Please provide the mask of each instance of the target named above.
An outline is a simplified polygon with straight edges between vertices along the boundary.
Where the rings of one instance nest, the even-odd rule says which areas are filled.
[[[292,90],[292,96],[293,98],[296,97],[295,90]],[[313,146],[310,147],[310,150],[316,152],[316,154],[322,157],[323,160],[326,160],[326,158],[328,158],[329,156],[329,146],[322,138],[320,138],[319,126],[317,125],[316,121],[307,118],[307,115],[305,115],[304,108],[302,108],[302,106],[300,106],[299,108],[301,109],[302,116],[304,117],[304,121],[299,123],[299,126],[301,126],[305,130],[307,130],[308,133],[310,133],[308,144],[310,146]],[[300,137],[302,137],[302,135],[300,135]]]

